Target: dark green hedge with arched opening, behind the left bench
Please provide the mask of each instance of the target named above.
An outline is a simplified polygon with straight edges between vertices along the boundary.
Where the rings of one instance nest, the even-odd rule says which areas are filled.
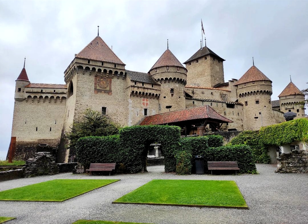
[[[120,129],[119,135],[80,138],[76,147],[79,162],[116,162],[125,173],[145,171],[148,146],[161,143],[165,156],[165,172],[176,171],[175,154],[179,150],[178,126],[131,126]],[[116,167],[117,168],[117,167]]]

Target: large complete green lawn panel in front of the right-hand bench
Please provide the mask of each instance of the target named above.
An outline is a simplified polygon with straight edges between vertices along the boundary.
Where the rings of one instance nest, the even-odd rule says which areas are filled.
[[[247,208],[234,181],[152,180],[113,203]]]

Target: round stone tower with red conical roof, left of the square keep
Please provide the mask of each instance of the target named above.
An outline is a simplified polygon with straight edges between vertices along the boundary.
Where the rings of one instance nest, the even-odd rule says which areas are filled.
[[[185,109],[187,70],[169,49],[160,56],[149,72],[161,84],[159,113]]]

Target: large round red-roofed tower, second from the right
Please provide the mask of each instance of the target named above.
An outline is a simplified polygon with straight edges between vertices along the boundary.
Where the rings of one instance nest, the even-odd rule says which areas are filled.
[[[244,105],[244,130],[259,130],[261,126],[274,123],[269,78],[253,65],[234,86],[237,86],[239,102]]]

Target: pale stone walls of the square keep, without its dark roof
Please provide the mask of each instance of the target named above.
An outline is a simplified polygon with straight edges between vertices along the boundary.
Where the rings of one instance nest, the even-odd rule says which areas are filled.
[[[213,87],[224,83],[224,65],[216,57],[207,55],[186,64],[187,84],[197,83],[204,87]]]

